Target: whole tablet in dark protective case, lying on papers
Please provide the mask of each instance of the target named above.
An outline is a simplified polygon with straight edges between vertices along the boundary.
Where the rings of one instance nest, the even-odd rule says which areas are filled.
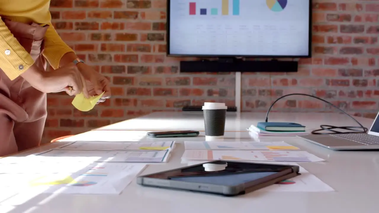
[[[236,196],[300,175],[299,166],[210,161],[137,177],[143,186]]]

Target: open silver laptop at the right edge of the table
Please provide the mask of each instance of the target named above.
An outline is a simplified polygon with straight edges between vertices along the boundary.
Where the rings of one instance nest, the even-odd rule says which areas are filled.
[[[332,150],[379,149],[379,113],[368,133],[341,133],[330,135],[298,135],[310,143]]]

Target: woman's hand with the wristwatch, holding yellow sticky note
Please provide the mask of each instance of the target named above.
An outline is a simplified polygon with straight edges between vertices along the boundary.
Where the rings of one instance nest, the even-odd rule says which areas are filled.
[[[85,87],[89,96],[98,96],[104,92],[97,103],[104,102],[111,97],[110,82],[107,78],[85,63],[78,63],[77,67],[85,80]]]

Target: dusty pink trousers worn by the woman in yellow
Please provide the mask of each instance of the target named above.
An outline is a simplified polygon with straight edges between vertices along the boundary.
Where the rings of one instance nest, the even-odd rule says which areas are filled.
[[[30,53],[38,68],[45,72],[46,61],[42,51],[49,26],[3,21]],[[9,80],[0,69],[0,156],[38,147],[46,116],[46,94],[34,89],[21,76]]]

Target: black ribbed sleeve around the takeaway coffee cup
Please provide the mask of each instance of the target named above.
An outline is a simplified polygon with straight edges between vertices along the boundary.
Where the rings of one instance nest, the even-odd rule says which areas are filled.
[[[223,136],[226,110],[203,110],[206,136]]]

